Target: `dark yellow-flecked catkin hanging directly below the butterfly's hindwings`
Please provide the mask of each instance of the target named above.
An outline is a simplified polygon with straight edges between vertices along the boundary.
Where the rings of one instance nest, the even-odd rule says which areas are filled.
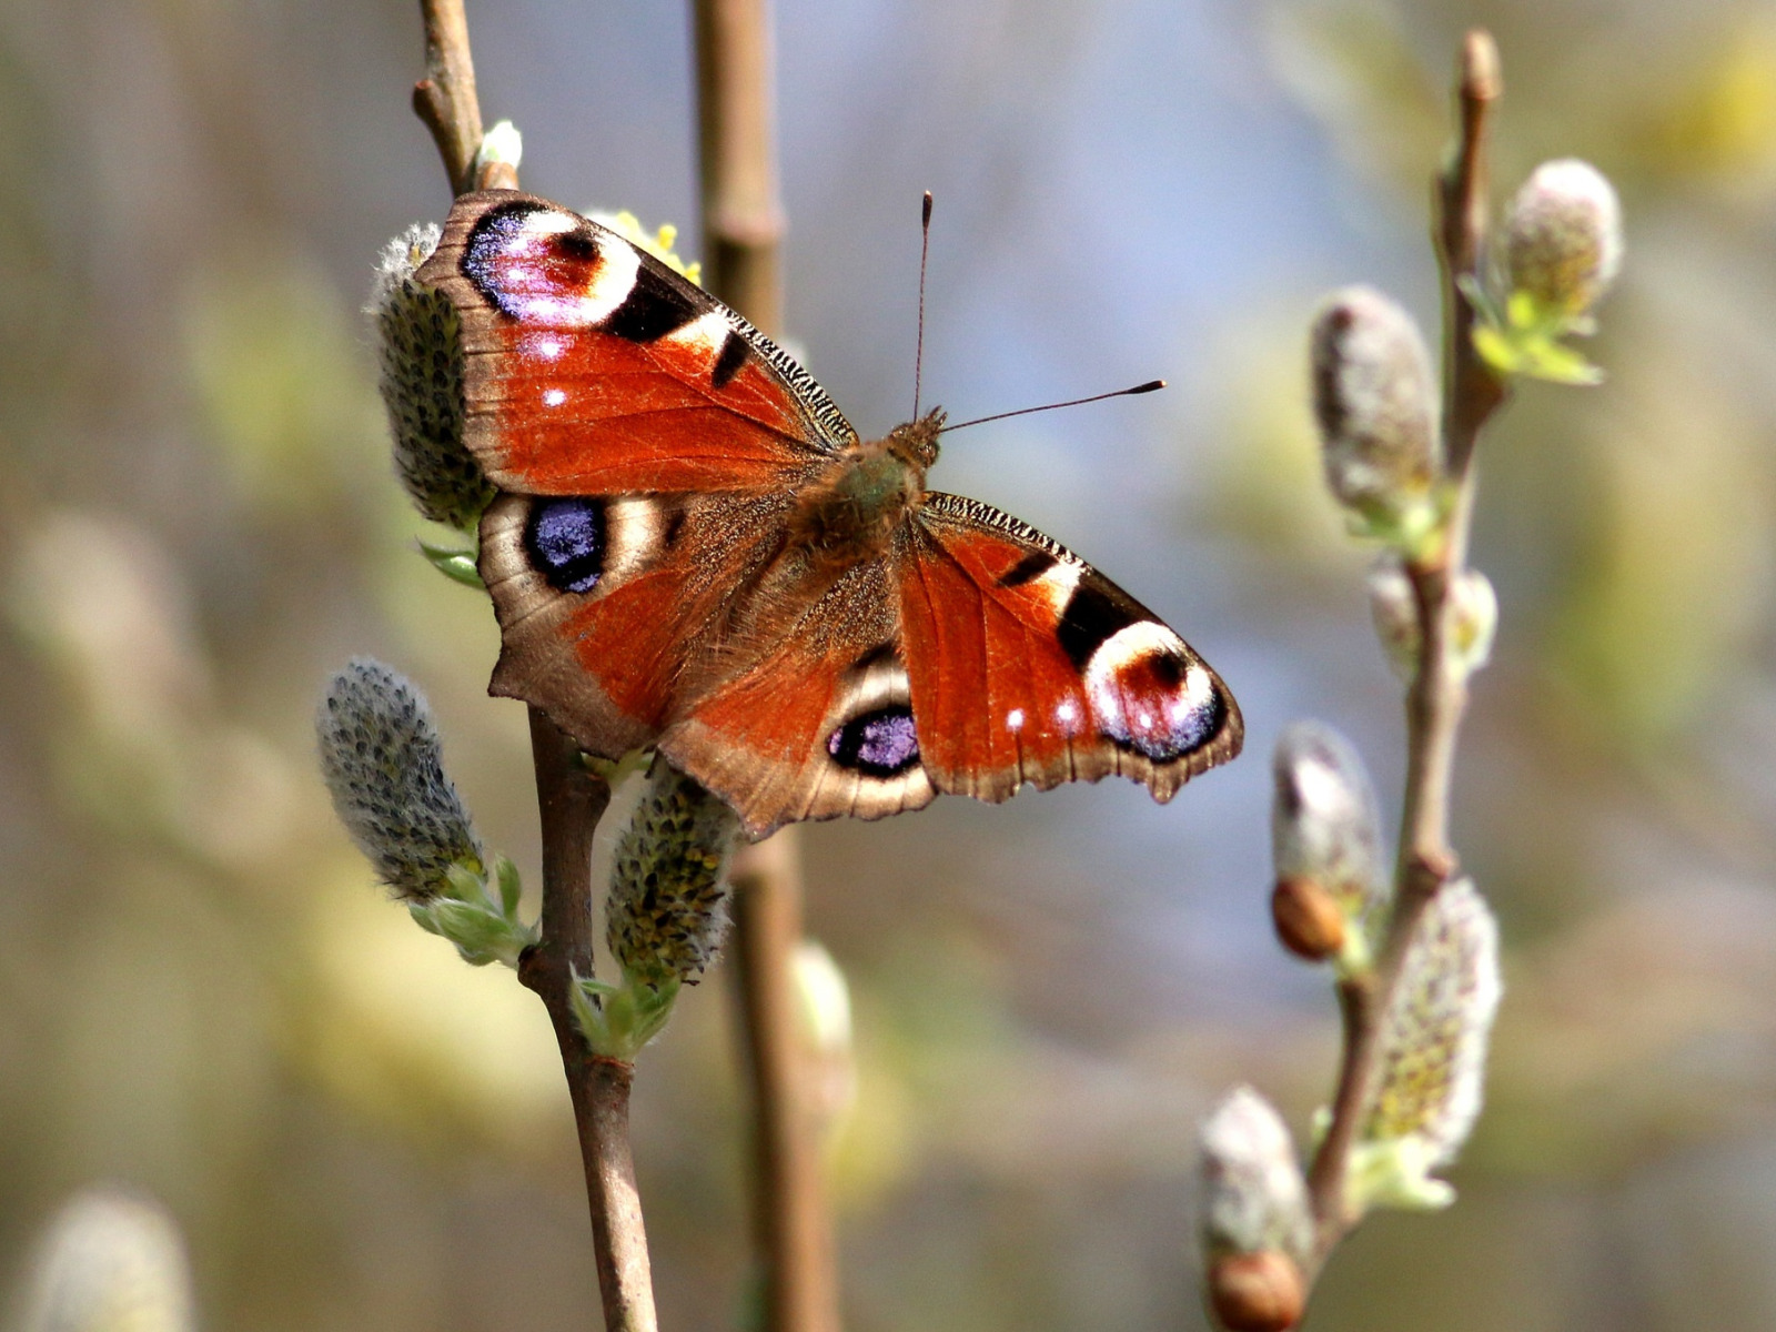
[[[641,984],[696,984],[728,932],[728,852],[739,819],[659,755],[616,844],[606,940]]]

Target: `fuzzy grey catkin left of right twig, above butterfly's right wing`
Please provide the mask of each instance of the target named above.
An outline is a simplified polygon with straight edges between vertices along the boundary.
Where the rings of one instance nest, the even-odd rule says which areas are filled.
[[[1412,547],[1442,520],[1437,394],[1417,323],[1375,288],[1327,297],[1309,339],[1334,497],[1357,527]]]

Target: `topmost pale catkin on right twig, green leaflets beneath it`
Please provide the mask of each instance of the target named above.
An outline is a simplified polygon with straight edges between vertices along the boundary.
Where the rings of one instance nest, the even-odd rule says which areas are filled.
[[[1513,298],[1547,316],[1584,314],[1621,270],[1621,204],[1590,162],[1543,162],[1504,217],[1504,265]]]

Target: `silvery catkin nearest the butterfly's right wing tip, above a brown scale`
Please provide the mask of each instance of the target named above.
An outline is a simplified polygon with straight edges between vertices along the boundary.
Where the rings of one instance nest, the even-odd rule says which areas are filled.
[[[1387,900],[1380,815],[1369,774],[1336,730],[1296,721],[1277,741],[1272,778],[1272,854],[1277,892],[1291,897],[1291,924],[1296,906],[1314,918],[1323,916],[1327,904],[1336,906],[1348,922],[1339,961],[1346,968],[1366,966],[1369,931]],[[1305,888],[1286,893],[1284,884],[1312,884],[1314,893]],[[1280,931],[1280,915],[1277,924]],[[1321,941],[1327,932],[1321,927]]]

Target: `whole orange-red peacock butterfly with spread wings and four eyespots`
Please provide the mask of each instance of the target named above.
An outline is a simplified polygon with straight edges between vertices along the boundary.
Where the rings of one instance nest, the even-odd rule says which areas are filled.
[[[1110,773],[1167,801],[1240,751],[1233,694],[1140,602],[925,490],[941,410],[860,439],[732,309],[535,195],[460,197],[417,279],[460,316],[501,492],[490,689],[588,751],[655,746],[755,836]]]

